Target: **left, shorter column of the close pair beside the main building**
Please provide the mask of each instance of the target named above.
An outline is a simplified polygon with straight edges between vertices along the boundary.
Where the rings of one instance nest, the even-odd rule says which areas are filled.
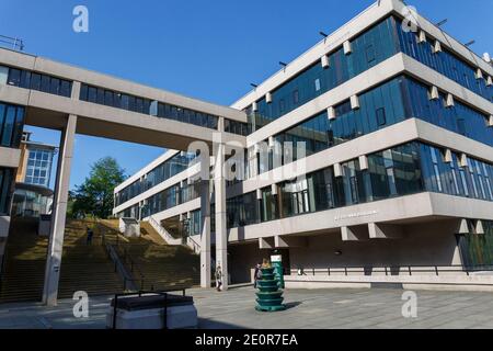
[[[210,159],[207,155],[200,167],[210,168]],[[200,286],[210,287],[210,182],[209,179],[200,180]]]

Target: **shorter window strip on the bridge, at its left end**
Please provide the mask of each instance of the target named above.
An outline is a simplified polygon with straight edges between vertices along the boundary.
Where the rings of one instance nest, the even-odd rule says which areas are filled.
[[[19,88],[32,89],[49,94],[70,98],[72,82],[57,77],[41,75],[25,69],[10,68],[7,84]]]

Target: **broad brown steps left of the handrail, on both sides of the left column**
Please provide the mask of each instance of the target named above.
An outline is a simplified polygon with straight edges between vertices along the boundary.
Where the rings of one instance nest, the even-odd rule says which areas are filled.
[[[60,267],[59,298],[71,298],[84,291],[89,296],[123,291],[123,281],[94,230],[87,245],[87,226],[92,222],[69,220],[66,225]],[[37,220],[13,219],[1,275],[0,303],[38,302],[43,298],[48,238],[36,234]]]

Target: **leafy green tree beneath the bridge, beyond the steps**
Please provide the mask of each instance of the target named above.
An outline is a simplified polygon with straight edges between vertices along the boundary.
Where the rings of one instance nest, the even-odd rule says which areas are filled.
[[[70,194],[72,217],[93,215],[107,218],[113,210],[113,190],[126,179],[125,170],[112,157],[91,166],[91,172]]]

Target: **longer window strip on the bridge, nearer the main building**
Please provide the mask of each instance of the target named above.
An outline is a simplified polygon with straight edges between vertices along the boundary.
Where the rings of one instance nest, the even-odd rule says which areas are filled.
[[[210,114],[88,84],[81,86],[80,100],[210,129],[218,126],[218,117]]]

